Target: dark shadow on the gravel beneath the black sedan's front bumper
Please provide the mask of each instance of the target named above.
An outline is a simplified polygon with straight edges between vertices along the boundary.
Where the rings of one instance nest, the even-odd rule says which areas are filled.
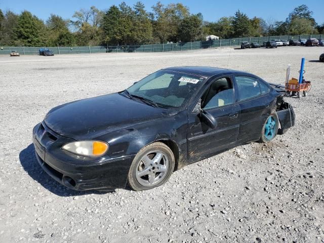
[[[33,144],[29,144],[28,147],[21,150],[19,153],[19,160],[24,168],[24,170],[28,173],[28,175],[43,187],[48,189],[50,192],[58,195],[58,196],[79,196],[79,195],[86,195],[86,194],[106,194],[112,191],[96,191],[96,190],[89,190],[89,191],[75,191],[71,190],[57,181],[55,181],[52,177],[50,177],[41,166],[38,165],[35,156],[35,149]]]

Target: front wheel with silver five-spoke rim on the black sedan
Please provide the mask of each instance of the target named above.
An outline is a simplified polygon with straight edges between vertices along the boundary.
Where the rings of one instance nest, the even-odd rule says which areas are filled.
[[[174,166],[172,150],[164,143],[151,143],[136,154],[128,173],[128,184],[135,191],[160,186],[168,181]]]

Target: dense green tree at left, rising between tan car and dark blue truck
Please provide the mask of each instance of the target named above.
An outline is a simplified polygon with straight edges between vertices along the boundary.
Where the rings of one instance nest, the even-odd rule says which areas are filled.
[[[46,27],[42,20],[24,11],[18,17],[17,26],[14,29],[15,44],[22,46],[44,46]]]

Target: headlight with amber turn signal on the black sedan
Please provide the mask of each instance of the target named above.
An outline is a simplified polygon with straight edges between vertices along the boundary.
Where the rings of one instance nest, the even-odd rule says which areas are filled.
[[[100,156],[108,150],[108,144],[102,141],[77,141],[67,143],[62,148],[83,156]]]

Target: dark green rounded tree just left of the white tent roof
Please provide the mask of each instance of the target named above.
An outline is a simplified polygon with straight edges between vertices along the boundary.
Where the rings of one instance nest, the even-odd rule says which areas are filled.
[[[179,37],[182,42],[194,42],[200,39],[203,20],[199,15],[185,17],[179,28]]]

